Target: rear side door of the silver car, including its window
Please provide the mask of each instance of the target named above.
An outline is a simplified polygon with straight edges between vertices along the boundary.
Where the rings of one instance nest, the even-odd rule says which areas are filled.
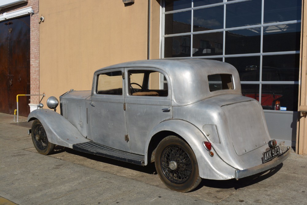
[[[145,153],[150,131],[172,118],[167,75],[156,68],[125,68],[126,124],[132,153]]]

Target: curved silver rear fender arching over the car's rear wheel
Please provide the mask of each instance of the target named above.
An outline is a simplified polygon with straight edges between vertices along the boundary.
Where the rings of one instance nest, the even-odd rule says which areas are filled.
[[[235,178],[236,169],[226,164],[214,149],[212,149],[214,156],[211,157],[209,155],[209,152],[203,145],[203,141],[206,141],[204,134],[191,123],[179,119],[163,121],[150,132],[150,137],[148,137],[145,147],[145,165],[148,163],[147,155],[151,138],[162,131],[177,133],[188,143],[188,145],[190,145],[196,156],[201,178],[214,180]],[[214,147],[214,145],[212,147]]]

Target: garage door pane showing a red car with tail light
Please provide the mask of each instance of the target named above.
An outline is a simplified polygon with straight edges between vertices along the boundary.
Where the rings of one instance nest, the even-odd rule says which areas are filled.
[[[261,105],[265,110],[275,110],[275,104],[286,111],[297,111],[298,85],[262,84]]]

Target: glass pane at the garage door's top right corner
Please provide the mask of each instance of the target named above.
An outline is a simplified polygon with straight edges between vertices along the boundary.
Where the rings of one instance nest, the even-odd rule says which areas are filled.
[[[301,20],[301,0],[265,0],[264,23]]]

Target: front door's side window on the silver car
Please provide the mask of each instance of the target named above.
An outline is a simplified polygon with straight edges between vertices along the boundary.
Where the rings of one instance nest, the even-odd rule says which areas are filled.
[[[102,95],[122,95],[122,72],[114,71],[97,76],[96,93]]]

